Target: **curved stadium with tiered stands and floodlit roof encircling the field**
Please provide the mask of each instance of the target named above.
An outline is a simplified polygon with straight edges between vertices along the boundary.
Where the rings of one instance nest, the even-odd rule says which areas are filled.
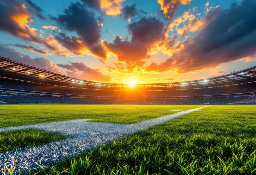
[[[72,78],[0,56],[0,103],[256,104],[256,66],[195,81],[131,86]]]

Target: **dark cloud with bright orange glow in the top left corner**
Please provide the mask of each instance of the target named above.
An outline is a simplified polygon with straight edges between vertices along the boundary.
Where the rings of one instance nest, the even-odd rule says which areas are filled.
[[[45,45],[52,52],[67,56],[68,53],[61,48],[58,42],[51,36],[46,39],[42,38],[41,34],[36,34],[36,29],[31,28],[32,14],[27,11],[25,4],[20,0],[4,0],[5,3],[0,3],[0,30],[11,33],[30,43]]]

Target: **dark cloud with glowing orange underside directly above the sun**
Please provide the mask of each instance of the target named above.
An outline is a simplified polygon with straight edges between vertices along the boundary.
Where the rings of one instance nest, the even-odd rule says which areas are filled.
[[[128,31],[132,35],[130,41],[127,37],[122,39],[116,36],[113,43],[104,44],[110,52],[117,55],[119,61],[125,61],[134,67],[142,66],[144,64],[142,60],[147,58],[148,51],[155,43],[164,40],[166,28],[164,23],[155,17],[143,17],[128,25]]]

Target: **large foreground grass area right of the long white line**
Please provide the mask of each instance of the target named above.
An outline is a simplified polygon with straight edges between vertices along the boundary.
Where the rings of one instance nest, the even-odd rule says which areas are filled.
[[[213,105],[38,174],[256,174],[255,109]]]

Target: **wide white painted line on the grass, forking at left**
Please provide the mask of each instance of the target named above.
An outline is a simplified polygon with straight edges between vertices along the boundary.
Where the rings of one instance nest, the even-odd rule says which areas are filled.
[[[86,122],[88,119],[83,119],[0,128],[0,132],[35,128],[48,132],[58,132],[74,136],[74,138],[69,140],[51,142],[39,147],[32,146],[0,153],[0,174],[4,174],[5,166],[16,166],[14,174],[19,174],[21,169],[24,167],[27,167],[29,170],[36,171],[40,166],[54,166],[57,162],[65,159],[66,156],[73,157],[74,155],[81,154],[86,150],[114,141],[117,138],[122,138],[128,134],[169,121],[181,115],[200,110],[204,107],[181,111],[135,124],[96,123]]]

